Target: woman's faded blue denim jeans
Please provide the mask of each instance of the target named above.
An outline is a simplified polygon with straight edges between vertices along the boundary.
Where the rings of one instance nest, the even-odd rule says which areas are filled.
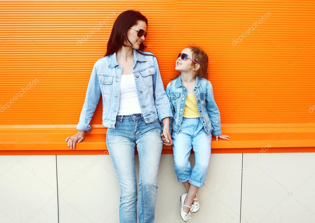
[[[106,145],[120,186],[120,223],[153,223],[157,200],[157,173],[163,141],[159,120],[146,123],[142,114],[118,115],[106,132]],[[139,198],[135,172],[135,144],[139,154]]]

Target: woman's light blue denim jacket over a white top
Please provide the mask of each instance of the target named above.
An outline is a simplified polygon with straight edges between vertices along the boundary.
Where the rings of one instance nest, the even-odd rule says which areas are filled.
[[[142,55],[135,49],[133,49],[133,53],[134,66],[132,70],[142,117],[145,122],[152,123],[156,119],[162,121],[165,117],[173,117],[156,57]],[[150,52],[143,53],[149,54]],[[95,62],[80,119],[76,126],[78,130],[91,131],[89,123],[101,94],[103,103],[102,124],[107,128],[115,128],[119,108],[121,75],[122,66],[117,63],[116,53],[102,57]]]

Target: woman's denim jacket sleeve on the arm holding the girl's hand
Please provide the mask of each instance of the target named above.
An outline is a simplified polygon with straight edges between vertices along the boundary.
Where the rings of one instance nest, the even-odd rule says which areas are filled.
[[[173,117],[173,114],[170,108],[169,99],[164,90],[160,69],[158,67],[157,59],[155,56],[153,56],[153,64],[154,69],[156,70],[155,74],[153,74],[152,76],[153,96],[155,107],[157,109],[157,116],[161,122],[163,118]]]

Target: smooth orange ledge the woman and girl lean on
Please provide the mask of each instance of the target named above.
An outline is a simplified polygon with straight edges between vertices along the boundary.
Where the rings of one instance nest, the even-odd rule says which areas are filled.
[[[222,124],[230,140],[212,137],[211,153],[315,152],[315,123]],[[0,155],[98,155],[108,154],[106,128],[92,125],[85,140],[71,150],[65,142],[75,125],[0,125]],[[163,146],[162,154],[172,154]]]

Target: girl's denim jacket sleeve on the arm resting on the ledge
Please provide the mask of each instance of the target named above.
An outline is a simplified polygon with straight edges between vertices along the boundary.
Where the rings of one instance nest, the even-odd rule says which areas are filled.
[[[212,84],[209,81],[207,84],[207,93],[206,93],[206,107],[209,115],[209,119],[212,125],[212,135],[218,136],[221,135],[221,116],[219,112],[219,108],[215,103],[215,99],[213,96],[213,88]]]

